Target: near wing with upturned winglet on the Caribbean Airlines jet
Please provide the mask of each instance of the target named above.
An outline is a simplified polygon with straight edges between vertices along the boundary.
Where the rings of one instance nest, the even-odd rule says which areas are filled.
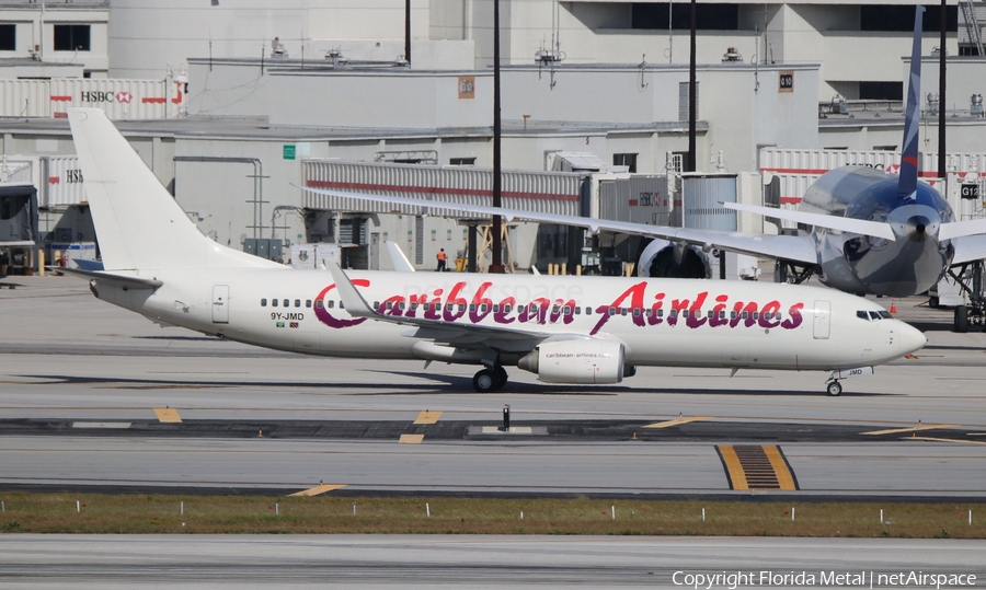
[[[443,320],[386,315],[377,312],[367,303],[366,299],[353,285],[353,281],[349,280],[349,277],[337,264],[331,263],[329,271],[332,273],[335,288],[339,290],[339,294],[349,315],[416,327],[416,329],[404,333],[404,336],[436,340],[459,348],[501,348],[514,351],[534,350],[538,344],[548,338],[559,340],[586,337],[585,334],[548,334],[546,332],[503,326],[454,324]]]

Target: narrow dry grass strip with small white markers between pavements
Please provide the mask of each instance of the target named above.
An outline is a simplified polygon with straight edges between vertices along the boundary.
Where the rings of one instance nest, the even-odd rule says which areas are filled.
[[[790,501],[607,501],[589,498],[331,495],[286,498],[71,493],[5,493],[0,495],[0,501],[3,502],[0,533],[8,534],[444,533],[986,537],[986,525],[976,520],[986,520],[986,507],[958,502],[812,501],[798,505]],[[880,520],[881,510],[883,521]],[[968,523],[970,510],[974,516],[972,524]]]

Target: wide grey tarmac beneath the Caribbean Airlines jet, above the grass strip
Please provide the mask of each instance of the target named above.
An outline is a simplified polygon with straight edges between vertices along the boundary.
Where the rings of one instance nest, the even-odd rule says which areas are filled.
[[[918,299],[895,303],[928,348],[837,398],[822,373],[652,368],[595,387],[514,369],[481,395],[472,367],[268,351],[161,328],[76,279],[18,282],[0,290],[0,488],[986,497],[986,335]],[[507,404],[519,430],[501,433]],[[791,485],[737,487],[733,451],[776,453]]]

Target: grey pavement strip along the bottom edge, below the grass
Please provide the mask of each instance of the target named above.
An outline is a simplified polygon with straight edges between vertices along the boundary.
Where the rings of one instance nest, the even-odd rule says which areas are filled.
[[[0,588],[693,588],[704,576],[725,589],[740,574],[734,588],[825,586],[823,576],[847,574],[887,588],[880,575],[982,582],[984,551],[955,540],[4,535]],[[814,583],[783,583],[798,575]]]

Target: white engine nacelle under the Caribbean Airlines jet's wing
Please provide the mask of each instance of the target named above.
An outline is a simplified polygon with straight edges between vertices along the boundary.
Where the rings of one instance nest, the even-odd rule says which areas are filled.
[[[623,345],[581,339],[543,343],[523,357],[517,367],[537,373],[546,383],[619,383],[634,367],[623,366]]]

